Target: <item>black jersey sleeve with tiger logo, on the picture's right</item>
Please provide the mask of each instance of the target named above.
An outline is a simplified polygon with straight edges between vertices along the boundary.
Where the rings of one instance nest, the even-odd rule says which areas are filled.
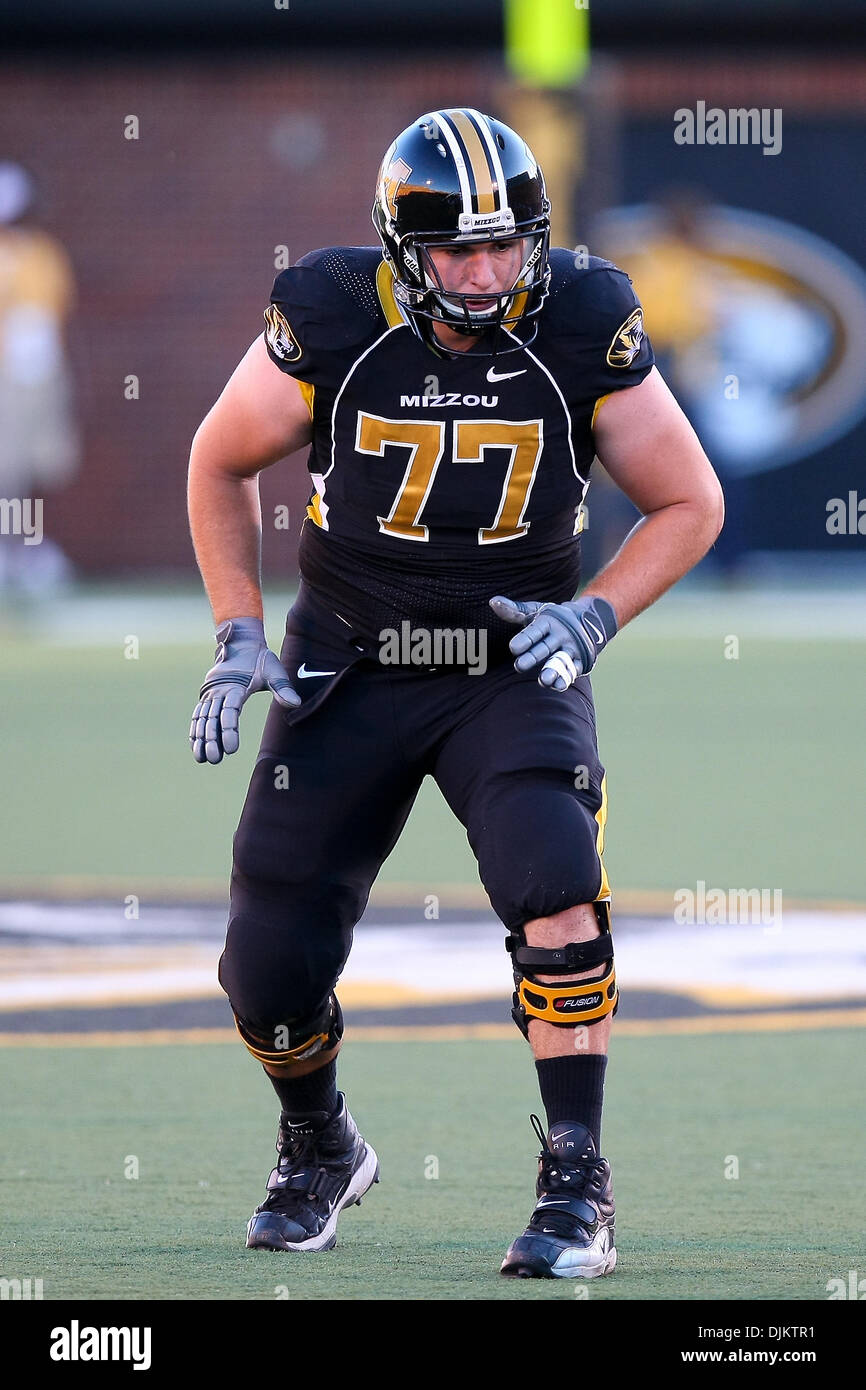
[[[603,261],[575,277],[557,300],[557,348],[581,399],[598,400],[644,381],[655,354],[626,271]]]

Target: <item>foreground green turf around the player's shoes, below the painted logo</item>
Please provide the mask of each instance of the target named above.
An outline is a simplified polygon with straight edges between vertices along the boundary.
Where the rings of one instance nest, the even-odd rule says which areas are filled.
[[[0,1273],[42,1277],[46,1300],[525,1301],[575,1284],[591,1300],[826,1298],[862,1266],[860,1047],[848,1030],[616,1041],[620,1265],[591,1286],[498,1275],[534,1202],[538,1102],[517,1036],[346,1049],[382,1179],[320,1257],[243,1247],[275,1106],[239,1045],[7,1051]]]

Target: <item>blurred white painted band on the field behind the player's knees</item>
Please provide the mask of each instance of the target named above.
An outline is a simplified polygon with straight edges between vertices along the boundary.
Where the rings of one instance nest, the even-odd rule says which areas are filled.
[[[165,909],[163,926],[171,931],[146,938],[140,923],[118,923],[115,909],[31,903],[17,916],[17,906],[0,905],[0,1009],[221,995],[215,969],[224,915],[206,915],[203,931],[200,909]],[[46,941],[51,924],[54,942]],[[103,945],[93,935],[97,924]],[[139,929],[135,938],[124,938],[129,927]],[[74,945],[75,931],[81,945]],[[361,926],[341,994],[356,1005],[503,997],[512,988],[503,935],[493,919]],[[691,991],[708,1002],[744,1005],[866,998],[866,913],[785,912],[769,926],[631,917],[614,926],[614,940],[623,991]]]

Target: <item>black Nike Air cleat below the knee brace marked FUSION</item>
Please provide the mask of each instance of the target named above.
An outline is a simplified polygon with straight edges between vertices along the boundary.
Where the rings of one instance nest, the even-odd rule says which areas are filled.
[[[599,1158],[584,1125],[559,1120],[541,1140],[538,1202],[523,1236],[512,1243],[500,1275],[512,1279],[598,1279],[616,1265],[610,1163]]]

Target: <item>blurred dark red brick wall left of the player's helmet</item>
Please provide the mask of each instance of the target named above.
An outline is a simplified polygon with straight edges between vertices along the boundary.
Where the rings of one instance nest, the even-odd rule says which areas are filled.
[[[274,247],[371,245],[389,142],[436,106],[493,103],[478,57],[0,64],[0,158],[40,185],[40,224],[78,279],[70,348],[83,428],[44,530],[83,574],[197,574],[186,523],[195,430],[261,331]],[[139,139],[124,120],[139,118]],[[124,399],[135,374],[140,399]],[[263,474],[267,573],[296,571],[304,456]],[[292,530],[272,530],[288,503]],[[268,514],[271,528],[268,532]]]

